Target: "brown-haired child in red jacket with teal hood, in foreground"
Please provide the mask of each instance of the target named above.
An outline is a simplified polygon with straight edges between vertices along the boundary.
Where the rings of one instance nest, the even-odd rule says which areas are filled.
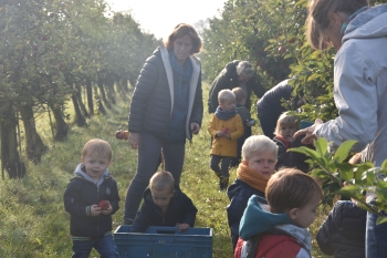
[[[318,183],[299,169],[284,168],[271,176],[265,196],[249,199],[234,258],[311,258],[307,227],[323,197]]]

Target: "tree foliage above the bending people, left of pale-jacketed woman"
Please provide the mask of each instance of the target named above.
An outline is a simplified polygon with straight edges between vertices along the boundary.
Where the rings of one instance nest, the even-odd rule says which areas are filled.
[[[370,4],[386,3],[370,1]],[[224,64],[249,60],[265,89],[294,78],[294,95],[303,95],[302,118],[328,121],[337,116],[333,99],[335,52],[314,51],[306,43],[307,0],[229,0],[221,18],[203,31],[201,60],[206,80],[212,81]]]

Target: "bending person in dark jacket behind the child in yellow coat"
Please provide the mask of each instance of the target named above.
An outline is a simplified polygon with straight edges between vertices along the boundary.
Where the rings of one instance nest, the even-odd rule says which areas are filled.
[[[254,74],[252,64],[248,61],[234,60],[228,63],[212,82],[208,97],[208,112],[216,112],[218,94],[221,90],[228,89],[232,91],[234,87],[242,87],[247,92],[245,107],[249,111],[251,107],[251,93],[254,92],[258,97],[261,97],[264,93],[263,86]]]

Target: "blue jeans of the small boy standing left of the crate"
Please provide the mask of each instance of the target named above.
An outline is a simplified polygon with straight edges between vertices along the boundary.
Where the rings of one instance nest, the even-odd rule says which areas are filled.
[[[118,258],[116,245],[113,236],[108,235],[103,238],[92,240],[73,240],[72,258],[88,258],[93,247],[98,251],[101,258]]]

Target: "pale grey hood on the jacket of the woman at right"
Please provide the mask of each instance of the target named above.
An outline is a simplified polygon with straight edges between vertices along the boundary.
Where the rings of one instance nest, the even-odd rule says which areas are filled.
[[[387,4],[369,8],[357,14],[347,25],[343,43],[349,39],[387,37]]]

